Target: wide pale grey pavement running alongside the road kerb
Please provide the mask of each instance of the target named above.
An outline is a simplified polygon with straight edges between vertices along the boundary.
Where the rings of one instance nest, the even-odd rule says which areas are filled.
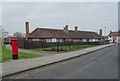
[[[5,77],[12,74],[28,71],[37,67],[42,67],[45,65],[50,65],[53,63],[65,61],[65,60],[79,57],[81,55],[85,55],[93,51],[97,51],[99,49],[103,49],[112,45],[113,44],[100,45],[100,46],[95,46],[91,48],[85,48],[83,50],[72,51],[72,52],[62,53],[62,54],[55,54],[55,55],[46,56],[46,57],[11,60],[9,62],[3,62],[1,76]]]

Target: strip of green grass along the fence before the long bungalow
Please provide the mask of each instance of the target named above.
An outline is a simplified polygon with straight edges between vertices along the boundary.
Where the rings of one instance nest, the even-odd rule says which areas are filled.
[[[78,50],[78,49],[81,49],[81,48],[88,48],[88,47],[93,47],[93,46],[97,46],[97,45],[79,45],[79,46],[59,46],[59,49],[62,48],[64,50],[67,50],[67,51],[74,51],[74,50]],[[49,47],[49,48],[43,48],[43,50],[50,50],[50,49],[57,49],[57,47]],[[42,48],[35,48],[35,49],[31,49],[31,50],[34,50],[34,51],[42,51]]]

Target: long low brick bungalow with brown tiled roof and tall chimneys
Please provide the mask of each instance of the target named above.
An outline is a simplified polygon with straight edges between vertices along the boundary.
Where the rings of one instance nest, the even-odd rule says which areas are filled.
[[[100,34],[102,31],[100,30]],[[90,31],[79,31],[78,26],[75,30],[68,30],[68,25],[63,29],[36,28],[29,33],[29,23],[26,22],[26,40],[45,41],[45,42],[96,42],[100,41],[102,36]]]

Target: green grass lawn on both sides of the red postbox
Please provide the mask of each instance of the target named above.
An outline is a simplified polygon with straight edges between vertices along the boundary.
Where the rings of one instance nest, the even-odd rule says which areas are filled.
[[[0,45],[0,48],[1,48],[0,49],[0,62],[12,59],[12,51],[6,49],[6,45]],[[41,57],[42,55],[19,52],[18,56],[19,56],[19,59],[23,59],[23,58]]]

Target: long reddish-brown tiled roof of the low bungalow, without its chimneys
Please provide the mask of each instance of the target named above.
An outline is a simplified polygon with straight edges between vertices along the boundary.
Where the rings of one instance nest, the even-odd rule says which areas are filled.
[[[95,32],[36,28],[28,38],[101,38]]]

